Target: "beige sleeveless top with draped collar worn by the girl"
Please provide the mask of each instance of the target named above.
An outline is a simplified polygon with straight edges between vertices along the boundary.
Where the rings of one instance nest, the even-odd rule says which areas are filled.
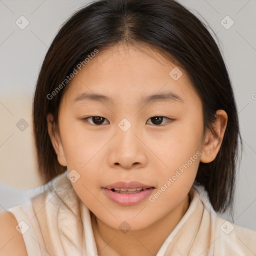
[[[67,170],[51,181],[53,190],[8,209],[17,219],[28,256],[100,256],[90,211],[66,175]],[[156,256],[256,255],[256,231],[218,217],[201,186],[193,186],[189,196],[187,211]]]

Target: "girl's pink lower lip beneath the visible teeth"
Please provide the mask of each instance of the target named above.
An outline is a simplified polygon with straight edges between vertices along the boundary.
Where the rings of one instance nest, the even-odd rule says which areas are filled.
[[[118,193],[113,192],[110,189],[103,188],[103,190],[106,192],[106,195],[113,201],[120,205],[133,205],[140,201],[142,201],[144,198],[146,198],[152,191],[153,187],[150,187],[148,189],[142,190],[141,192],[136,193]]]

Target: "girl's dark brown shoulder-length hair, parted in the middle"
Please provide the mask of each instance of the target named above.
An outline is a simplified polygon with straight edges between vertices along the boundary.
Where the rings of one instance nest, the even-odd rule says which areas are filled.
[[[125,41],[157,49],[185,70],[202,102],[204,129],[212,130],[217,109],[226,111],[220,150],[212,162],[200,162],[195,178],[208,192],[213,208],[224,212],[232,207],[238,138],[241,142],[232,87],[206,26],[174,0],[98,0],[77,10],[61,26],[43,60],[33,98],[38,171],[44,184],[66,169],[57,161],[46,114],[53,113],[57,124],[60,98],[68,83],[54,96],[52,91],[95,49],[100,54]]]

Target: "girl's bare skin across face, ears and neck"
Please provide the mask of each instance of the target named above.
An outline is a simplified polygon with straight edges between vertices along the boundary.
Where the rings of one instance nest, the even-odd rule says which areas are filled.
[[[178,80],[169,75],[173,67],[172,62],[141,44],[120,44],[99,51],[68,84],[59,106],[59,130],[52,114],[47,115],[59,163],[80,175],[72,185],[92,212],[100,256],[156,255],[189,206],[188,192],[199,161],[212,161],[220,148],[226,112],[216,111],[214,129],[219,138],[208,130],[203,134],[201,100],[184,70],[179,67],[183,75]],[[164,91],[176,93],[184,103],[140,103],[141,97]],[[74,103],[81,92],[104,94],[113,104]],[[90,116],[105,119],[102,124],[82,119]],[[157,124],[151,118],[154,116],[174,121],[163,118]],[[131,123],[127,131],[118,126],[123,118]],[[137,180],[154,186],[154,194],[197,151],[200,156],[154,202],[145,198],[135,205],[121,206],[102,189],[116,181]],[[125,234],[118,228],[123,221],[130,226]]]

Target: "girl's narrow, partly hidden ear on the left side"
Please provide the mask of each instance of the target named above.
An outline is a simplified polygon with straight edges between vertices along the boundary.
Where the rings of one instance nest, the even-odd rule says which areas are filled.
[[[50,137],[51,144],[56,152],[58,162],[59,164],[66,166],[65,154],[64,154],[62,142],[60,139],[60,134],[56,130],[56,124],[53,121],[53,114],[48,113],[46,116],[46,120],[47,120],[48,134]]]

